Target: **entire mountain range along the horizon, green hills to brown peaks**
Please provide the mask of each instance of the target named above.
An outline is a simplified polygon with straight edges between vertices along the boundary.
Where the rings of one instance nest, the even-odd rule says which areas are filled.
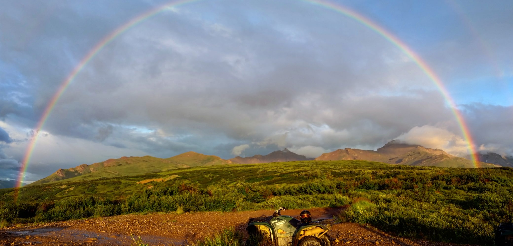
[[[38,180],[30,185],[61,180],[82,181],[116,176],[133,176],[196,166],[259,164],[307,160],[366,160],[408,166],[474,167],[470,160],[451,155],[441,149],[431,149],[420,145],[405,144],[394,140],[388,142],[377,150],[351,148],[338,149],[333,152],[323,153],[315,159],[307,158],[304,155],[299,155],[288,149],[277,150],[267,155],[257,154],[249,157],[235,156],[235,158],[229,160],[221,159],[215,155],[204,155],[192,151],[166,159],[156,158],[149,155],[130,157],[123,156],[120,159],[109,159],[104,162],[98,162],[90,165],[82,164],[74,168],[58,169],[48,177]],[[480,167],[513,167],[513,157],[505,157],[492,152],[480,154],[479,161]]]

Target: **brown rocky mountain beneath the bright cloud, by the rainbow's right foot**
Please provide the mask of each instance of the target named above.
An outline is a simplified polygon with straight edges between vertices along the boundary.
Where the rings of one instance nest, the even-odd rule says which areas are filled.
[[[366,160],[408,166],[474,167],[470,160],[450,155],[441,149],[404,144],[396,140],[388,142],[378,150],[338,149],[324,153],[315,160]],[[481,162],[480,167],[498,167],[498,165]]]

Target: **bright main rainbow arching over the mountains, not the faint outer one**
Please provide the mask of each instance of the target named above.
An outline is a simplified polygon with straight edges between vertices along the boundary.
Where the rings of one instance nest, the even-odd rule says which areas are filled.
[[[135,18],[133,18],[132,20],[128,21],[123,26],[121,26],[121,27],[117,28],[116,30],[114,30],[112,33],[110,33],[109,35],[104,37],[100,42],[98,42],[96,44],[96,46],[93,47],[93,49],[82,59],[82,61],[80,63],[78,63],[78,65],[73,69],[73,71],[71,71],[69,76],[62,82],[61,86],[58,88],[57,92],[55,93],[55,95],[52,97],[52,99],[48,103],[47,107],[45,108],[40,121],[37,123],[36,129],[35,129],[36,134],[30,140],[30,143],[29,143],[29,145],[27,147],[27,151],[26,151],[26,153],[24,155],[24,159],[23,159],[23,163],[22,163],[22,167],[21,167],[21,172],[20,172],[19,177],[18,177],[18,185],[17,185],[18,188],[21,186],[21,183],[23,182],[24,174],[27,171],[28,164],[30,163],[30,158],[31,158],[32,152],[34,150],[35,144],[37,142],[37,139],[38,139],[38,132],[45,125],[45,122],[47,121],[48,117],[50,116],[50,114],[52,112],[52,109],[55,107],[55,104],[57,103],[59,98],[64,94],[64,92],[66,91],[66,88],[71,84],[71,82],[74,80],[76,75],[82,71],[82,69],[85,67],[85,65],[87,65],[87,63],[96,54],[98,54],[98,52],[100,52],[107,44],[109,44],[112,40],[114,40],[116,37],[118,37],[122,33],[126,32],[130,28],[136,26],[137,24],[140,24],[142,21],[144,21],[144,20],[146,20],[146,19],[148,19],[148,18],[150,18],[150,17],[152,17],[152,16],[154,16],[154,15],[156,15],[156,14],[158,14],[158,13],[164,11],[164,10],[170,9],[172,7],[177,7],[177,6],[180,6],[180,5],[184,5],[184,4],[188,4],[188,3],[193,3],[193,2],[198,2],[198,1],[200,1],[200,0],[172,1],[170,3],[167,3],[165,5],[157,7],[155,9],[153,9],[153,10],[147,11],[147,12],[145,12],[145,13],[143,13],[143,14],[135,17]],[[327,2],[327,1],[323,1],[323,0],[298,0],[298,1],[330,9],[330,10],[336,11],[336,12],[341,13],[341,14],[343,14],[343,15],[351,18],[351,19],[354,19],[354,20],[358,21],[359,23],[361,23],[365,27],[367,27],[367,28],[371,29],[372,31],[374,31],[374,32],[378,33],[379,35],[381,35],[383,38],[385,38],[390,43],[392,43],[394,46],[396,46],[401,51],[403,51],[413,61],[415,61],[415,63],[429,77],[429,79],[433,83],[435,83],[435,85],[437,86],[438,90],[443,95],[443,97],[445,98],[446,102],[449,104],[449,107],[452,110],[452,114],[455,116],[455,118],[456,118],[456,120],[457,120],[457,122],[458,122],[458,124],[459,124],[459,126],[461,128],[461,131],[463,133],[463,137],[464,137],[465,141],[467,142],[468,150],[471,153],[471,161],[472,161],[472,163],[474,164],[475,167],[478,167],[478,162],[477,162],[478,159],[477,159],[475,147],[472,144],[473,141],[471,139],[468,127],[465,124],[465,121],[463,120],[463,116],[461,115],[460,111],[458,110],[458,108],[456,106],[456,103],[450,97],[449,93],[447,92],[447,89],[444,87],[444,85],[443,85],[442,81],[440,80],[440,78],[435,74],[435,72],[433,72],[433,70],[431,68],[429,68],[427,63],[425,61],[423,61],[420,58],[419,55],[417,55],[415,52],[413,52],[404,42],[399,40],[397,37],[392,35],[390,32],[388,32],[384,28],[378,26],[376,23],[374,23],[369,18],[367,18],[367,17],[365,17],[365,16],[363,16],[363,15],[357,13],[357,12],[354,12],[353,10],[350,10],[350,9],[348,9],[346,7],[341,6],[341,5],[330,3],[330,2]],[[15,199],[16,199],[17,192],[15,192],[15,193],[16,193],[16,195],[15,195]]]

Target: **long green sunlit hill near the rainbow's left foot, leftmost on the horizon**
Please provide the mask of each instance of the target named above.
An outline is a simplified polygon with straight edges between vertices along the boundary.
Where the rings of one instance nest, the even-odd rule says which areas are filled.
[[[45,184],[49,182],[70,180],[84,181],[98,178],[110,178],[120,176],[142,175],[152,172],[162,172],[176,168],[209,166],[229,164],[218,156],[204,155],[195,152],[187,152],[162,159],[153,156],[123,156],[120,159],[109,159],[104,162],[91,165],[82,164],[70,169],[59,169],[50,176],[38,180],[31,185]]]

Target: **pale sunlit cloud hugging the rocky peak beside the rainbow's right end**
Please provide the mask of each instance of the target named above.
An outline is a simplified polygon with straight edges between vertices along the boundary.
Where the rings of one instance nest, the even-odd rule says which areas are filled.
[[[416,126],[396,139],[426,148],[442,149],[452,155],[466,156],[468,154],[468,143],[462,137],[435,126]]]

